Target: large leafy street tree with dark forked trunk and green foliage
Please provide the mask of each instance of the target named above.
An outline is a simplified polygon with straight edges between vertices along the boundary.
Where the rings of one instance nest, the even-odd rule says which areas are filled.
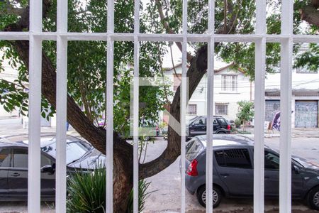
[[[318,33],[318,0],[296,0],[294,5],[294,33]],[[27,0],[0,1],[0,30],[28,31],[29,6]],[[181,1],[151,0],[141,2],[140,33],[181,33]],[[267,1],[267,33],[280,33],[281,1]],[[134,2],[115,1],[115,32],[132,33],[134,28]],[[189,33],[206,33],[208,29],[208,1],[190,0],[188,9]],[[69,32],[106,32],[106,1],[69,0]],[[216,34],[254,33],[255,2],[247,0],[216,1]],[[306,26],[301,23],[307,22]],[[56,31],[56,0],[43,0],[43,31]],[[162,76],[162,56],[172,43],[140,43],[140,76]],[[176,43],[181,49],[181,43]],[[187,53],[189,63],[189,97],[207,70],[206,43],[189,43],[194,52]],[[299,45],[295,45],[294,51]],[[28,40],[1,40],[4,59],[18,70],[15,82],[0,80],[0,102],[5,109],[20,109],[28,113]],[[274,72],[279,65],[280,45],[267,43],[267,72]],[[215,43],[215,53],[225,62],[233,62],[254,79],[254,43]],[[318,70],[318,45],[311,45],[303,55],[307,66]],[[317,57],[317,58],[313,58]],[[305,60],[306,59],[306,60]],[[56,43],[43,41],[42,107],[43,116],[52,116],[56,107]],[[130,126],[130,80],[132,79],[133,43],[116,42],[114,47],[114,133],[113,189],[114,212],[125,212],[128,195],[133,187],[133,146],[125,140]],[[3,67],[0,66],[3,70]],[[68,95],[67,120],[74,129],[102,153],[106,153],[106,131],[99,127],[99,119],[106,102],[106,43],[103,41],[69,41],[68,43]],[[156,98],[155,98],[156,97]],[[140,89],[140,102],[144,106],[140,117],[156,120],[157,111],[167,104],[167,88]],[[180,89],[174,94],[170,113],[179,121]],[[83,107],[83,109],[82,109]],[[107,122],[106,122],[107,123]],[[107,125],[107,124],[106,124]],[[171,165],[180,155],[180,136],[168,129],[167,148],[155,160],[140,163],[139,178],[149,178]]]

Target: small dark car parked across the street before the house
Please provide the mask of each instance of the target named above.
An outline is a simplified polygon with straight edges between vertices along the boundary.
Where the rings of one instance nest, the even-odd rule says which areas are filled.
[[[189,121],[189,137],[206,134],[206,116],[196,116]],[[223,116],[213,116],[213,133],[230,133],[230,123]]]

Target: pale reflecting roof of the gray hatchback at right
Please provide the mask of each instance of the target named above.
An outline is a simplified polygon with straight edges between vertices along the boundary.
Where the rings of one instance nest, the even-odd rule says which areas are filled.
[[[203,146],[206,148],[206,135],[196,136]],[[242,135],[233,134],[214,134],[213,147],[239,147],[239,146],[254,146],[254,141],[251,138]]]

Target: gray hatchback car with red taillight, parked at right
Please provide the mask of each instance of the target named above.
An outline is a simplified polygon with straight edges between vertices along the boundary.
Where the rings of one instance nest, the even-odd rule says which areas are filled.
[[[254,141],[245,136],[213,136],[213,207],[222,197],[252,197]],[[293,156],[291,194],[319,209],[319,167]],[[186,143],[186,188],[206,206],[206,136]],[[264,195],[279,196],[279,153],[264,148]]]

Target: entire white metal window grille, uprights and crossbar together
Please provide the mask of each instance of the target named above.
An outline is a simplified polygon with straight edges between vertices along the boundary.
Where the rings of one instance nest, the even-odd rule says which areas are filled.
[[[40,213],[40,103],[41,103],[41,55],[43,40],[57,40],[57,181],[56,212],[65,212],[65,141],[67,109],[67,41],[107,41],[107,135],[113,141],[113,43],[134,42],[134,76],[138,77],[138,49],[140,41],[170,41],[182,43],[181,80],[181,133],[185,132],[186,113],[186,43],[208,43],[208,131],[206,151],[206,212],[213,211],[213,53],[215,42],[255,43],[255,128],[254,128],[254,212],[264,212],[264,76],[266,43],[281,43],[281,136],[279,170],[279,209],[291,212],[291,70],[292,45],[295,43],[319,43],[318,35],[293,35],[293,1],[282,1],[281,34],[266,34],[266,0],[256,1],[256,33],[252,35],[214,34],[214,4],[208,1],[208,33],[187,33],[187,1],[183,0],[182,34],[143,34],[139,32],[139,5],[135,1],[134,33],[114,33],[114,0],[108,0],[106,33],[68,33],[67,1],[57,1],[57,32],[42,32],[42,1],[30,0],[30,30],[28,32],[0,32],[0,40],[30,41],[30,89],[29,89],[29,157],[28,157],[28,212]],[[184,81],[183,81],[184,79]],[[134,81],[134,94],[138,94],[138,81]],[[138,95],[134,103],[134,123],[138,122]],[[136,125],[138,126],[138,125]],[[135,129],[136,131],[136,129]],[[138,161],[137,138],[134,138],[134,212],[138,212]],[[106,212],[113,212],[113,143],[106,143]],[[185,170],[185,136],[181,136],[181,167]],[[58,175],[59,174],[59,175]],[[185,212],[185,174],[181,174],[181,212]]]

